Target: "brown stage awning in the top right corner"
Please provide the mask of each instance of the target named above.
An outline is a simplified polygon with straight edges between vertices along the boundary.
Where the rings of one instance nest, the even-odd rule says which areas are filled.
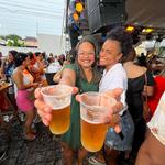
[[[127,23],[165,29],[165,0],[127,0]]]

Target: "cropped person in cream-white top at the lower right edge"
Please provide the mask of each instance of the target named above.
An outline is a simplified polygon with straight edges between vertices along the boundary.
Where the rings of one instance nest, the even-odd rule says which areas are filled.
[[[162,95],[151,121],[135,165],[165,164],[165,92]]]

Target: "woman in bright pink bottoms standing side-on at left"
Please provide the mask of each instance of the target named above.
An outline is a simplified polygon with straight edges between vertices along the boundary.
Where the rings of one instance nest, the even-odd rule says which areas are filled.
[[[15,85],[16,105],[20,111],[25,113],[24,139],[32,141],[35,139],[35,133],[32,130],[32,122],[35,117],[34,101],[30,95],[34,92],[37,82],[33,82],[34,78],[25,68],[30,64],[30,57],[25,53],[18,53],[15,56],[15,69],[13,70],[12,79]]]

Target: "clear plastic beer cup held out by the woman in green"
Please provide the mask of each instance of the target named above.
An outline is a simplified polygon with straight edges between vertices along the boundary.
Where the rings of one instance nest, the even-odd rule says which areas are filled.
[[[52,121],[50,130],[53,134],[63,134],[70,125],[70,86],[54,85],[42,88],[44,102],[52,108]]]

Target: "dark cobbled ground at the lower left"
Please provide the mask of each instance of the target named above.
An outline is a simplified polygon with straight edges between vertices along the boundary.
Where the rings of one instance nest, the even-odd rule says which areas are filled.
[[[22,123],[16,120],[8,123],[8,127],[0,127],[0,152],[8,148],[0,165],[64,165],[59,138],[52,135],[43,123],[35,125],[37,138],[33,142],[23,140]],[[84,164],[88,165],[88,162]]]

